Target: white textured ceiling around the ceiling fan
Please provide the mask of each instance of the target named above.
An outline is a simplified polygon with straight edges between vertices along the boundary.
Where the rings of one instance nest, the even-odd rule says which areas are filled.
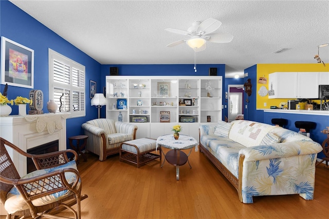
[[[258,63],[316,63],[329,42],[329,1],[16,1],[49,29],[101,64],[193,64],[187,30],[209,17],[234,36],[196,53],[197,64],[226,64],[226,77]],[[281,53],[272,53],[289,48]],[[329,46],[320,58],[329,62]],[[191,65],[193,71],[193,65]]]

